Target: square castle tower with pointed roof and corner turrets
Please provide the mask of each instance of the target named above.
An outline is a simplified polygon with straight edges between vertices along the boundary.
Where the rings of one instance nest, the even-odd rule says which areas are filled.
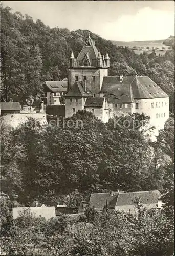
[[[70,67],[68,69],[68,91],[73,87],[76,81],[86,81],[86,87],[98,97],[103,77],[108,75],[109,56],[102,59],[100,51],[95,46],[95,41],[88,37],[78,57],[75,58],[72,52],[70,58]]]

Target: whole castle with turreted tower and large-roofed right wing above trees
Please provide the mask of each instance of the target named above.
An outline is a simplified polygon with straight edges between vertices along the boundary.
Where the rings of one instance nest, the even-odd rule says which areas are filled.
[[[115,116],[144,113],[150,126],[162,129],[169,96],[147,76],[108,76],[109,67],[108,53],[102,56],[89,35],[78,57],[73,52],[70,57],[65,117],[87,110],[106,123]]]

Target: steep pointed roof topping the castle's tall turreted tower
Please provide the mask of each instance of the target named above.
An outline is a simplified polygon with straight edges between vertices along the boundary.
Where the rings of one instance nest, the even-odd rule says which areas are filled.
[[[88,53],[89,58],[92,59],[97,59],[98,56],[98,50],[95,46],[95,42],[91,39],[91,37],[89,36],[89,38],[86,40],[81,52],[79,53],[78,57],[77,57],[77,61],[81,61],[83,60],[84,56]]]

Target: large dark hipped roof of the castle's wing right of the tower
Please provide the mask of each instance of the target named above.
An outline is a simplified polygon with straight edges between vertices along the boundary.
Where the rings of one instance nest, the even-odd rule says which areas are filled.
[[[127,90],[127,87],[129,86],[131,86],[135,99],[168,97],[168,95],[148,76],[126,76],[123,77],[122,82],[120,82],[119,76],[103,77],[100,93],[107,93],[110,90],[112,93],[113,90],[114,92],[116,91],[116,88],[121,88],[123,91],[126,90],[127,94],[129,90]]]

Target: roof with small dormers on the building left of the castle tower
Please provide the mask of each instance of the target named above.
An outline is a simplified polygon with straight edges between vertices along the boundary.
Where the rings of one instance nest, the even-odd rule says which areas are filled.
[[[45,92],[67,92],[68,81],[45,81],[42,83]]]

